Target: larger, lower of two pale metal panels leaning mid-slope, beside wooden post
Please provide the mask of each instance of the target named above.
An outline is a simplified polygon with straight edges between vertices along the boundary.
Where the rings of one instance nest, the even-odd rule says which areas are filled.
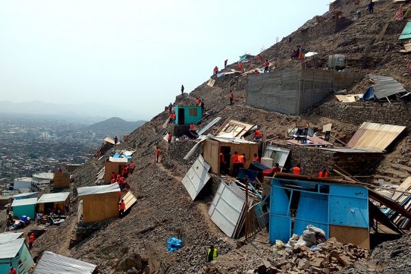
[[[236,191],[221,181],[219,189],[212,199],[208,214],[227,236],[233,237],[238,221],[245,206],[245,199],[239,197]]]

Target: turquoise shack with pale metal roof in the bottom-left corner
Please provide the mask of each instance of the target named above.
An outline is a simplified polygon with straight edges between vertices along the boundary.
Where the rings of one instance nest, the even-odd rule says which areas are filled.
[[[25,245],[23,233],[0,234],[0,273],[9,273],[10,266],[17,274],[27,273],[34,264],[32,254]]]

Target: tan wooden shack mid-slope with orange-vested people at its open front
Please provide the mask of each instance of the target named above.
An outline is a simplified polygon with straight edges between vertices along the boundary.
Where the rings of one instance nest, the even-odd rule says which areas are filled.
[[[225,156],[225,162],[229,163],[229,174],[233,171],[234,152],[245,153],[245,169],[253,162],[253,154],[258,153],[258,143],[238,138],[213,137],[203,142],[203,158],[210,164],[212,173],[220,173],[220,153]]]

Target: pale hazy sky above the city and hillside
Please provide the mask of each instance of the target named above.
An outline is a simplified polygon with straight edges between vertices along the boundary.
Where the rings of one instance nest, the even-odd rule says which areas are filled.
[[[329,2],[3,0],[0,101],[104,103],[151,119],[182,84],[271,47]]]

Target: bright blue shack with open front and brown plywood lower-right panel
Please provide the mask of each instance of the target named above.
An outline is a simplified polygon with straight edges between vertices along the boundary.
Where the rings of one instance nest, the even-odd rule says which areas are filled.
[[[314,225],[326,238],[370,248],[367,188],[294,177],[280,173],[271,180],[270,242],[288,242]]]

